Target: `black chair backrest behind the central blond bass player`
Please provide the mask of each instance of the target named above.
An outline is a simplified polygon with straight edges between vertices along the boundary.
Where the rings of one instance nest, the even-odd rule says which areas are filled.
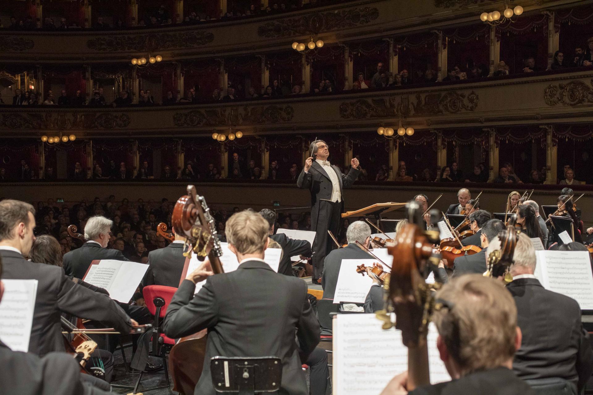
[[[282,383],[278,357],[213,357],[210,371],[216,392],[254,395],[278,391]]]

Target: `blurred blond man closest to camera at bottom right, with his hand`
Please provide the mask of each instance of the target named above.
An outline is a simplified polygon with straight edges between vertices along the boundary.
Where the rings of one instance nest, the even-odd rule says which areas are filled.
[[[472,274],[455,278],[436,293],[442,307],[433,313],[436,348],[452,380],[419,387],[410,395],[533,395],[512,369],[521,346],[517,307],[503,285]],[[381,395],[408,394],[407,372],[394,377]]]

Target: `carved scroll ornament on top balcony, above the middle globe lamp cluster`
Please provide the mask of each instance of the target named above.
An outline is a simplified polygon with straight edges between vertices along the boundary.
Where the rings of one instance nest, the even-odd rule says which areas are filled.
[[[260,37],[308,36],[371,23],[379,17],[374,7],[360,7],[339,11],[315,12],[296,18],[285,18],[265,23],[257,28]]]

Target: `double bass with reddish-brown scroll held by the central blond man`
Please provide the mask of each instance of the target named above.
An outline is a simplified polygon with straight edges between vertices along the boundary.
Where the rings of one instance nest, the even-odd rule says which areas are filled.
[[[196,253],[199,261],[208,258],[214,274],[224,273],[220,256],[222,248],[216,238],[215,221],[206,200],[196,194],[194,185],[187,186],[187,195],[177,200],[171,219],[176,232],[186,237],[183,255]],[[183,281],[183,277],[181,281]],[[208,329],[181,338],[169,352],[169,371],[173,377],[173,390],[191,395],[200,380],[206,356]]]

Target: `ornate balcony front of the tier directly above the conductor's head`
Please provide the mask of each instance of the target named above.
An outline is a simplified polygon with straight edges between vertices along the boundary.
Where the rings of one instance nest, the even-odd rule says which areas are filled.
[[[79,138],[369,131],[593,122],[593,69],[412,88],[295,95],[212,104],[90,108],[0,106],[2,137],[64,132]]]

